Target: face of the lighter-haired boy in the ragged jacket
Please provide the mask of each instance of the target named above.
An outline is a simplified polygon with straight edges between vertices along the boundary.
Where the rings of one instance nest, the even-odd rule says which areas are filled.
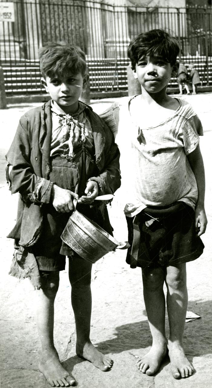
[[[65,72],[62,76],[41,78],[41,83],[52,97],[52,100],[65,113],[78,110],[78,100],[88,81],[88,75]]]

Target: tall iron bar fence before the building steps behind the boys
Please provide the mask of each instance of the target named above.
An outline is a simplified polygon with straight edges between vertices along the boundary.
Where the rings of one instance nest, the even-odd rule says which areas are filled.
[[[5,3],[11,2],[0,0],[0,65],[5,71],[7,94],[43,92],[38,49],[46,42],[59,41],[78,45],[86,53],[91,91],[127,90],[128,44],[134,36],[153,28],[176,36],[181,47],[179,60],[195,63],[203,85],[212,84],[212,21],[207,7],[14,0],[14,13],[3,15]],[[176,80],[172,79],[174,85]]]

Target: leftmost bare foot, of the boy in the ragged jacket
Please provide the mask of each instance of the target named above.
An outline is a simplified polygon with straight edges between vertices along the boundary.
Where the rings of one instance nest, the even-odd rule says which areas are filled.
[[[69,372],[67,372],[60,364],[56,350],[55,352],[51,352],[51,355],[49,356],[45,354],[41,357],[39,370],[44,374],[52,387],[69,387],[76,383]]]

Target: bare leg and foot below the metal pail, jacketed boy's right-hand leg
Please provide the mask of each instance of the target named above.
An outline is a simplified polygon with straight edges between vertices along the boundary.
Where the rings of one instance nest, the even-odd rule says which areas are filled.
[[[113,361],[100,353],[90,341],[92,263],[82,258],[69,258],[71,303],[76,323],[76,353],[102,371],[108,371]]]

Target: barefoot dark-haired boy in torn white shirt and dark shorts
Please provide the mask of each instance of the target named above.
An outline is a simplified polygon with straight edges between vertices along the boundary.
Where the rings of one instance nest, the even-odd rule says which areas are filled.
[[[186,262],[202,254],[200,236],[207,224],[205,175],[199,147],[202,125],[188,102],[166,94],[171,76],[178,71],[178,52],[178,41],[161,29],[134,38],[128,57],[142,94],[124,98],[102,114],[114,133],[117,128],[121,193],[131,244],[126,261],[131,268],[142,269],[153,338],[150,352],[138,361],[138,369],[154,375],[168,346],[175,379],[191,376],[194,371],[183,349],[188,303]],[[139,291],[136,295],[139,299]]]

